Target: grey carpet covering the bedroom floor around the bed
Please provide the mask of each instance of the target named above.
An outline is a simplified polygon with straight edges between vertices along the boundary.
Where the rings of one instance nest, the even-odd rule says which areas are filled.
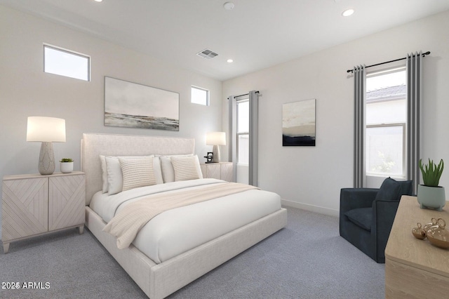
[[[0,288],[0,298],[146,298],[88,230],[2,251],[0,281],[20,289]],[[169,298],[384,298],[384,265],[339,236],[338,218],[288,208],[286,228]]]

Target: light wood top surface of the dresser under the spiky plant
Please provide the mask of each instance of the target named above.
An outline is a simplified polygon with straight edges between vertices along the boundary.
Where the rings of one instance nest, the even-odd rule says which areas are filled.
[[[431,218],[443,218],[449,224],[448,210],[448,201],[443,211],[435,211],[420,208],[416,197],[401,197],[385,248],[385,258],[449,277],[449,250],[438,248],[427,239],[416,239],[412,234],[417,222],[424,227]]]

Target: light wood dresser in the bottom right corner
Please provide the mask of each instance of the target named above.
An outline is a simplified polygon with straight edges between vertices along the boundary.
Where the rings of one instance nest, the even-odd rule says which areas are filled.
[[[412,234],[417,222],[424,227],[432,217],[449,225],[448,211],[449,202],[438,212],[420,208],[416,197],[401,198],[385,248],[385,298],[449,297],[449,250]]]

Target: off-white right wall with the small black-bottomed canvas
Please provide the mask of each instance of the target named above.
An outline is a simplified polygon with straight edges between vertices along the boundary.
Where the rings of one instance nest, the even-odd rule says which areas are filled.
[[[449,162],[449,11],[223,83],[227,96],[258,90],[259,185],[284,203],[337,215],[353,184],[353,78],[347,69],[431,51],[424,58],[422,157]],[[259,41],[263,47],[263,41]],[[282,147],[282,104],[316,98],[316,147]],[[224,153],[226,155],[226,153]],[[449,187],[449,171],[440,185]]]

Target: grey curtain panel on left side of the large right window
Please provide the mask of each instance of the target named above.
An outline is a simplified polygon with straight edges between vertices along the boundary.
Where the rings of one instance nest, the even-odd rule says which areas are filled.
[[[354,188],[366,185],[365,176],[365,67],[354,67]]]

